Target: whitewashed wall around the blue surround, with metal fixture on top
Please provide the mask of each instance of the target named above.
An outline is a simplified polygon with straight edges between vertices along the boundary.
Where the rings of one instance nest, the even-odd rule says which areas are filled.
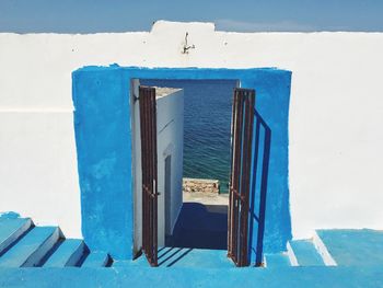
[[[186,32],[196,46],[188,55],[181,53]],[[278,67],[292,71],[294,237],[313,228],[383,229],[382,50],[383,33],[225,33],[209,23],[158,22],[150,33],[0,34],[0,211],[80,234],[74,69]]]

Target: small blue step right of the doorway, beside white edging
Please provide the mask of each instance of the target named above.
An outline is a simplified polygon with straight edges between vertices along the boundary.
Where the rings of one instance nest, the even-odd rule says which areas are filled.
[[[290,241],[290,246],[300,266],[324,266],[320,253],[311,240]]]

